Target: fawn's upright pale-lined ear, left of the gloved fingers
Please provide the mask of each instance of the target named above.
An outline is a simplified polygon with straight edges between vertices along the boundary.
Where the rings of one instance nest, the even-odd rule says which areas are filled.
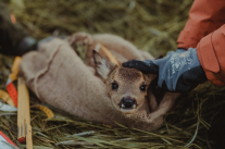
[[[116,64],[110,62],[96,50],[92,50],[96,70],[102,78],[107,79],[109,74],[116,67]]]

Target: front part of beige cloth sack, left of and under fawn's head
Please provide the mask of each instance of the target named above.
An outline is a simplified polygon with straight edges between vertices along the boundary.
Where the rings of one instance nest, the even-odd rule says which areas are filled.
[[[66,40],[53,39],[39,51],[26,53],[20,74],[37,97],[54,108],[85,120],[127,127],[154,131],[162,126],[163,115],[173,107],[177,94],[166,92],[159,105],[149,92],[149,110],[133,115],[116,111],[107,94],[104,83],[84,64]]]

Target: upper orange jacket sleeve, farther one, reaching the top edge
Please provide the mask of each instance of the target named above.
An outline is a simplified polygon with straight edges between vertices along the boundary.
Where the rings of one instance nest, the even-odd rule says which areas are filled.
[[[225,0],[195,0],[177,39],[178,48],[196,48],[200,39],[225,24]]]

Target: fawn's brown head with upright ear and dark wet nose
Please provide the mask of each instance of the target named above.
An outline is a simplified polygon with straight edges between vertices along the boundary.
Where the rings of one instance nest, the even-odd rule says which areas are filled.
[[[135,69],[118,66],[93,50],[99,75],[105,80],[107,90],[115,109],[133,114],[143,103],[147,89],[154,76]]]

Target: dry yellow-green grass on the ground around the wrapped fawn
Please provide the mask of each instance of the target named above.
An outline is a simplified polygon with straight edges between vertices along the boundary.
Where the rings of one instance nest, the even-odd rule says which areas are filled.
[[[11,10],[17,21],[41,39],[54,30],[60,35],[74,32],[111,33],[120,35],[139,49],[154,57],[176,49],[176,39],[183,29],[192,1],[180,0],[17,0]],[[5,82],[12,58],[0,55],[0,88]],[[177,99],[164,117],[160,129],[148,133],[139,129],[110,127],[80,120],[51,108],[55,117],[32,109],[35,149],[68,148],[150,148],[182,149],[210,148],[213,141],[207,131],[225,105],[225,87],[210,83]],[[39,102],[30,96],[30,104]],[[16,113],[0,111],[0,131],[16,141]],[[192,141],[193,140],[193,141]]]

